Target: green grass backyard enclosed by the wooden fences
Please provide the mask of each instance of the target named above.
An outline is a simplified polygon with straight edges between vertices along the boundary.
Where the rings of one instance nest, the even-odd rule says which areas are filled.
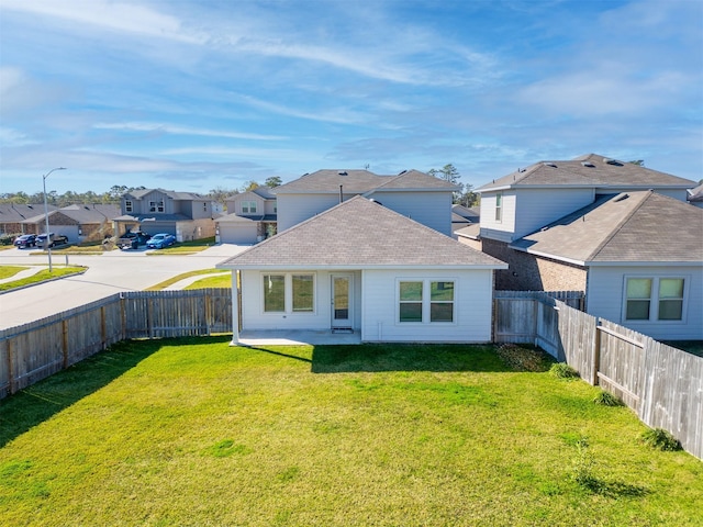
[[[701,525],[701,461],[495,349],[121,343],[0,401],[1,523]]]

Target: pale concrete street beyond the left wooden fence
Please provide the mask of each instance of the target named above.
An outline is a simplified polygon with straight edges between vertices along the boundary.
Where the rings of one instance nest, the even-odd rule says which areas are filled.
[[[113,250],[94,256],[68,256],[70,265],[87,266],[88,271],[31,288],[0,294],[0,329],[26,324],[120,291],[135,291],[163,282],[181,272],[212,269],[216,264],[246,247],[216,245],[197,255],[147,256],[143,249]],[[31,256],[32,250],[0,251],[0,265],[21,266],[48,262],[47,256]],[[63,265],[66,257],[53,255],[53,264]]]

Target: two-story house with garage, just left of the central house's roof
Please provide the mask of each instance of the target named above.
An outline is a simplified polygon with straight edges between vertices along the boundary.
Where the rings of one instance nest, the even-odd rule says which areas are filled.
[[[226,200],[228,214],[215,220],[216,243],[252,245],[276,234],[276,195],[268,187]]]

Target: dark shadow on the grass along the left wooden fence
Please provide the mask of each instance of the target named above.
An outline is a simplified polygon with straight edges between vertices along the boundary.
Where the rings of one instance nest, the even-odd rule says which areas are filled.
[[[193,337],[222,343],[228,337]],[[0,400],[0,448],[71,404],[97,392],[172,339],[123,340],[70,368]],[[188,338],[180,339],[187,341]]]

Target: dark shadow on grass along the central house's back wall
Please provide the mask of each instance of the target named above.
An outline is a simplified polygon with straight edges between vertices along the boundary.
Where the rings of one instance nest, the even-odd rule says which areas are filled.
[[[315,346],[313,373],[381,371],[514,371],[492,345],[366,344]]]

